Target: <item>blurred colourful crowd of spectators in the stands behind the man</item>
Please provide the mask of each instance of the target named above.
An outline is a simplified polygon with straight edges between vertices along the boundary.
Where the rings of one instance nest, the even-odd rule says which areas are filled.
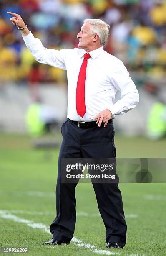
[[[165,0],[0,0],[0,84],[65,84],[63,70],[33,59],[7,11],[20,14],[34,36],[54,49],[78,47],[83,20],[101,18],[110,24],[106,51],[140,77],[166,79]]]

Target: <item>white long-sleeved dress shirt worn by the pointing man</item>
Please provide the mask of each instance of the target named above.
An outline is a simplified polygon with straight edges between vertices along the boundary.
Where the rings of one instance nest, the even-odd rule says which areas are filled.
[[[38,62],[67,70],[69,119],[90,122],[105,109],[114,116],[124,114],[138,104],[138,91],[123,62],[100,47],[89,52],[91,58],[88,59],[85,82],[86,113],[81,118],[76,112],[75,98],[78,74],[86,51],[79,48],[46,49],[32,33],[23,36],[23,40]],[[117,90],[121,92],[121,99],[115,102]]]

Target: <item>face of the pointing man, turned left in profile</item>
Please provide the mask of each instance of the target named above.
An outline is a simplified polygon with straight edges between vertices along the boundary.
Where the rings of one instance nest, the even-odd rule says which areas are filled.
[[[77,35],[77,38],[79,39],[78,47],[81,49],[91,49],[94,35],[91,35],[90,27],[91,25],[89,23],[84,23]]]

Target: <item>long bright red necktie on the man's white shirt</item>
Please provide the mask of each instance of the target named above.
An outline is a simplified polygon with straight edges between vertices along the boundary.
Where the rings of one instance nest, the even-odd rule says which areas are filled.
[[[85,81],[86,81],[86,67],[90,54],[84,54],[83,63],[80,67],[80,73],[78,75],[77,90],[76,90],[76,109],[78,115],[82,118],[86,113],[85,104]]]

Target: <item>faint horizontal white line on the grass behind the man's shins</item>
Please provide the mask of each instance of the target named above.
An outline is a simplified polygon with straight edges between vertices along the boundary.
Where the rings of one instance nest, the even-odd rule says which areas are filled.
[[[3,210],[5,213],[15,213],[15,214],[26,214],[26,215],[54,215],[53,212],[36,212],[36,211],[23,211],[23,210]],[[86,212],[77,212],[77,216],[83,217],[101,217],[100,213],[88,214]],[[126,218],[138,218],[137,214],[126,214]]]

